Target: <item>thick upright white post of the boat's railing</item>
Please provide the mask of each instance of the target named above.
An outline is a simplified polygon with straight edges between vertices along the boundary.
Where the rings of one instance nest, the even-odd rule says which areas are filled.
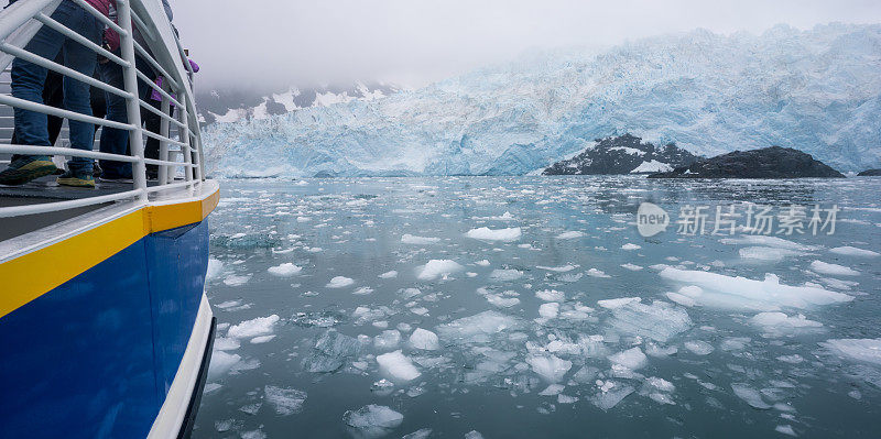
[[[138,74],[134,62],[134,39],[131,24],[131,4],[129,0],[117,0],[117,13],[119,17],[119,25],[126,30],[127,35],[120,35],[120,50],[122,51],[122,59],[129,62],[129,67],[123,67],[122,79],[126,85],[126,91],[131,94],[131,98],[127,99],[128,107],[128,121],[134,125],[134,130],[129,132],[129,145],[131,146],[131,155],[137,157],[138,161],[132,164],[132,177],[134,178],[134,188],[141,190],[138,197],[141,201],[146,202],[146,166],[144,165],[144,138],[143,128],[141,127],[141,103],[140,95],[138,94]]]

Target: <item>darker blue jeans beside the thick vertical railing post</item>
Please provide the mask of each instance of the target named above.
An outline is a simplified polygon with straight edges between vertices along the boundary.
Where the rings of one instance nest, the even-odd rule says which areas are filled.
[[[119,51],[116,53],[119,56]],[[134,57],[134,65],[148,78],[155,76],[148,62],[140,56]],[[122,67],[113,62],[98,64],[98,73],[101,75],[101,80],[113,87],[124,89],[124,80],[122,76]],[[138,95],[141,99],[146,99],[150,90],[141,79],[138,79]],[[107,99],[107,120],[112,120],[120,123],[129,123],[128,107],[126,99],[117,95],[105,91]],[[100,151],[102,153],[129,155],[129,132],[127,130],[119,130],[116,128],[105,127],[101,130]],[[112,162],[101,160],[98,162],[101,165],[101,176],[106,178],[131,178],[131,163]]]

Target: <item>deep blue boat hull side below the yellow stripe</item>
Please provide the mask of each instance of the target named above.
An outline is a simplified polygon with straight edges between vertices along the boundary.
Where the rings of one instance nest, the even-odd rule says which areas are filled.
[[[0,437],[146,437],[207,263],[206,221],[148,234],[0,318]]]

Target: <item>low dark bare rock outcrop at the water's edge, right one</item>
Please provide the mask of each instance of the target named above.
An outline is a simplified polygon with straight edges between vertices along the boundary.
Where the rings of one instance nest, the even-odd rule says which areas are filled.
[[[735,151],[649,178],[842,178],[811,154],[791,147]]]

